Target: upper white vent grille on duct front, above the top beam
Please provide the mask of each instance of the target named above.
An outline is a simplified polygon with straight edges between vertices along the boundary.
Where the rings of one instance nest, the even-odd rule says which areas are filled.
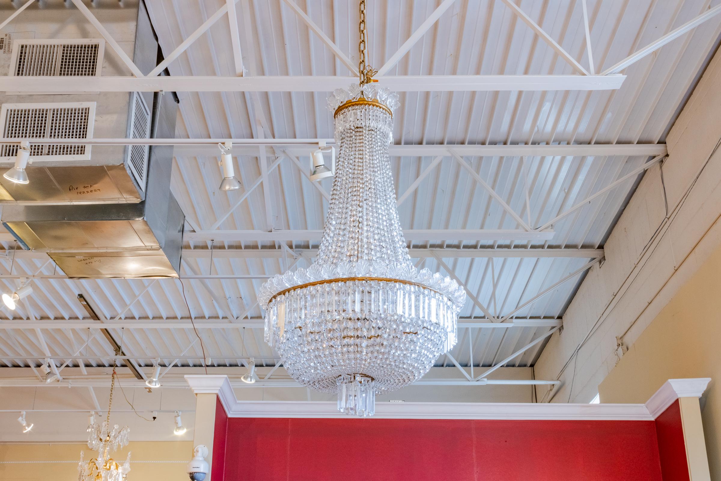
[[[15,40],[12,76],[99,76],[105,40]]]

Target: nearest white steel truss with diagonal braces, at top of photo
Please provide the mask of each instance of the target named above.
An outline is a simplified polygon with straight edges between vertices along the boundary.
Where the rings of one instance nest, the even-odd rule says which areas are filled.
[[[28,0],[1,24],[7,25],[17,15],[32,4]],[[87,9],[81,0],[72,0],[73,4],[87,18],[88,22],[105,38],[108,45],[115,51],[133,76],[117,77],[13,77],[6,76],[0,80],[0,90],[16,92],[330,92],[336,88],[344,88],[349,82],[355,81],[355,76],[245,76],[240,48],[239,28],[236,17],[237,0],[226,0],[225,4],[211,15],[203,25],[184,40],[167,60],[156,66],[149,74],[144,75],[140,69],[120,48],[120,45],[105,30],[92,12]],[[324,32],[311,21],[293,0],[282,0],[298,18],[304,22],[311,31],[317,35],[341,63],[355,74],[355,66],[350,58],[343,53]],[[683,35],[694,27],[701,25],[708,19],[721,12],[721,5],[707,10],[698,17],[691,19],[681,27],[660,37],[655,42],[638,50],[624,60],[594,75],[593,57],[590,50],[590,32],[588,31],[588,12],[583,1],[584,27],[590,63],[590,72],[572,58],[545,30],[543,30],[531,17],[521,10],[512,0],[502,0],[508,9],[521,21],[531,27],[541,40],[547,43],[561,58],[563,58],[578,75],[467,75],[467,76],[386,76],[387,71],[402,58],[410,48],[423,37],[425,32],[454,4],[454,0],[445,0],[426,19],[406,42],[384,63],[379,71],[379,79],[384,87],[398,92],[448,92],[448,91],[482,91],[482,90],[596,90],[618,89],[625,76],[617,74],[641,58],[653,53],[671,40]],[[236,76],[159,76],[169,63],[182,54],[195,40],[198,39],[224,14],[229,14],[230,43],[234,56],[234,69]]]

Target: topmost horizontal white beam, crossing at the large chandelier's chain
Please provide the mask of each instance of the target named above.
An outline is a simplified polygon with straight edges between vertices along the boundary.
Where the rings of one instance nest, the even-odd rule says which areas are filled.
[[[74,0],[80,1],[80,0]],[[136,67],[137,70],[137,67]],[[140,74],[140,71],[138,71]],[[384,76],[394,92],[501,92],[615,90],[624,75],[407,75]],[[0,91],[24,94],[85,92],[332,92],[358,83],[355,76],[3,76]]]

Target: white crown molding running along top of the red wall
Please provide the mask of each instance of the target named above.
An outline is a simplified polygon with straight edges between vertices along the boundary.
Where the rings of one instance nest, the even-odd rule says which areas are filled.
[[[216,393],[230,418],[348,418],[335,402],[239,401],[228,376],[185,376],[195,394]],[[709,378],[670,379],[645,404],[377,402],[381,419],[654,420],[678,397],[699,397]]]

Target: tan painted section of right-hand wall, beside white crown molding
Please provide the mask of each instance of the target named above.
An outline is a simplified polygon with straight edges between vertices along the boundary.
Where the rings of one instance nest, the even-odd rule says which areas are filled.
[[[712,479],[721,480],[721,247],[601,382],[601,402],[645,402],[666,379],[710,377],[702,398]]]

